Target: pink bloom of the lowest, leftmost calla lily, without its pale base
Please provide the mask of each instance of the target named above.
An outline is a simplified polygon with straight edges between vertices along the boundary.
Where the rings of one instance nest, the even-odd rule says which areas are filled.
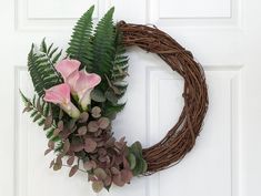
[[[54,104],[69,103],[70,102],[70,86],[68,84],[59,84],[49,90],[46,90],[43,97],[46,102]]]

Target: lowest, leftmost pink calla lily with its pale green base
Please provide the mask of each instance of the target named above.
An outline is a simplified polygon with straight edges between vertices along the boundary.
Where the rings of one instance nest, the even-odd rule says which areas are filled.
[[[49,90],[46,90],[43,97],[46,102],[58,104],[71,117],[78,118],[80,111],[71,103],[70,86],[68,84],[59,84]]]

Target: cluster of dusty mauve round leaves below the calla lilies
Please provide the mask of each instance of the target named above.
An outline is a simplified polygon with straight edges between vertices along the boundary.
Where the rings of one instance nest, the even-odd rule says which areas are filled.
[[[46,121],[47,128],[51,126],[49,118]],[[123,186],[133,177],[127,159],[127,142],[124,137],[116,141],[111,122],[101,116],[100,107],[94,106],[90,113],[83,112],[77,121],[60,121],[54,135],[63,142],[62,149],[50,165],[54,171],[64,165],[62,157],[67,156],[67,165],[71,167],[69,176],[73,176],[82,165],[96,192],[103,187],[109,189],[112,183]],[[49,142],[46,154],[56,148],[54,144]]]

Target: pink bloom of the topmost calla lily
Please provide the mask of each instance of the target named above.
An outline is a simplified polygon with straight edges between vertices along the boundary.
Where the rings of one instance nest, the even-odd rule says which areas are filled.
[[[62,78],[67,80],[72,72],[78,71],[80,64],[80,61],[66,59],[59,62],[56,69],[61,73]]]

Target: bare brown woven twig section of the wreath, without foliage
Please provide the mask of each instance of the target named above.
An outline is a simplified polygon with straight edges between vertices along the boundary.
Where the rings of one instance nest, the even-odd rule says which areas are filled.
[[[204,71],[191,52],[159,29],[123,21],[118,27],[127,47],[157,53],[184,79],[184,106],[179,121],[163,140],[143,149],[148,163],[144,175],[150,175],[179,163],[194,146],[209,105]]]

